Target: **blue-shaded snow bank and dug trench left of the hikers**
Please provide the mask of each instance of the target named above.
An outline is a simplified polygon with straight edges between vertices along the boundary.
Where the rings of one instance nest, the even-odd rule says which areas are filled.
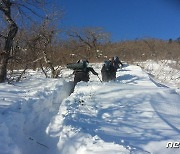
[[[29,72],[27,80],[0,85],[0,153],[40,153],[56,142],[45,129],[71,85]],[[48,151],[50,152],[50,150]]]

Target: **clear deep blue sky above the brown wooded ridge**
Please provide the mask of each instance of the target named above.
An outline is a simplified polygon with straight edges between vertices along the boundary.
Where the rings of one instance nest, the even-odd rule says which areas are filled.
[[[180,36],[179,0],[54,0],[65,27],[102,27],[113,41]]]

